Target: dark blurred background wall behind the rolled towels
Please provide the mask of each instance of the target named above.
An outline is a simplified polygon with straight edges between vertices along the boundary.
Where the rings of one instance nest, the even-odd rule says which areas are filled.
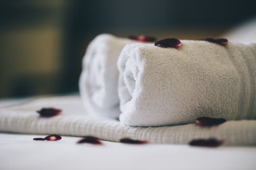
[[[4,98],[78,92],[86,46],[100,33],[216,38],[255,17],[256,1],[10,0],[0,13]]]

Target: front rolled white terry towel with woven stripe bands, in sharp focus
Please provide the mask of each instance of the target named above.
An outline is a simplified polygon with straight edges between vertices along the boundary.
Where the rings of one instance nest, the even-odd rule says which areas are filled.
[[[179,49],[126,45],[118,59],[120,121],[193,123],[198,117],[256,118],[256,45],[183,40]]]

